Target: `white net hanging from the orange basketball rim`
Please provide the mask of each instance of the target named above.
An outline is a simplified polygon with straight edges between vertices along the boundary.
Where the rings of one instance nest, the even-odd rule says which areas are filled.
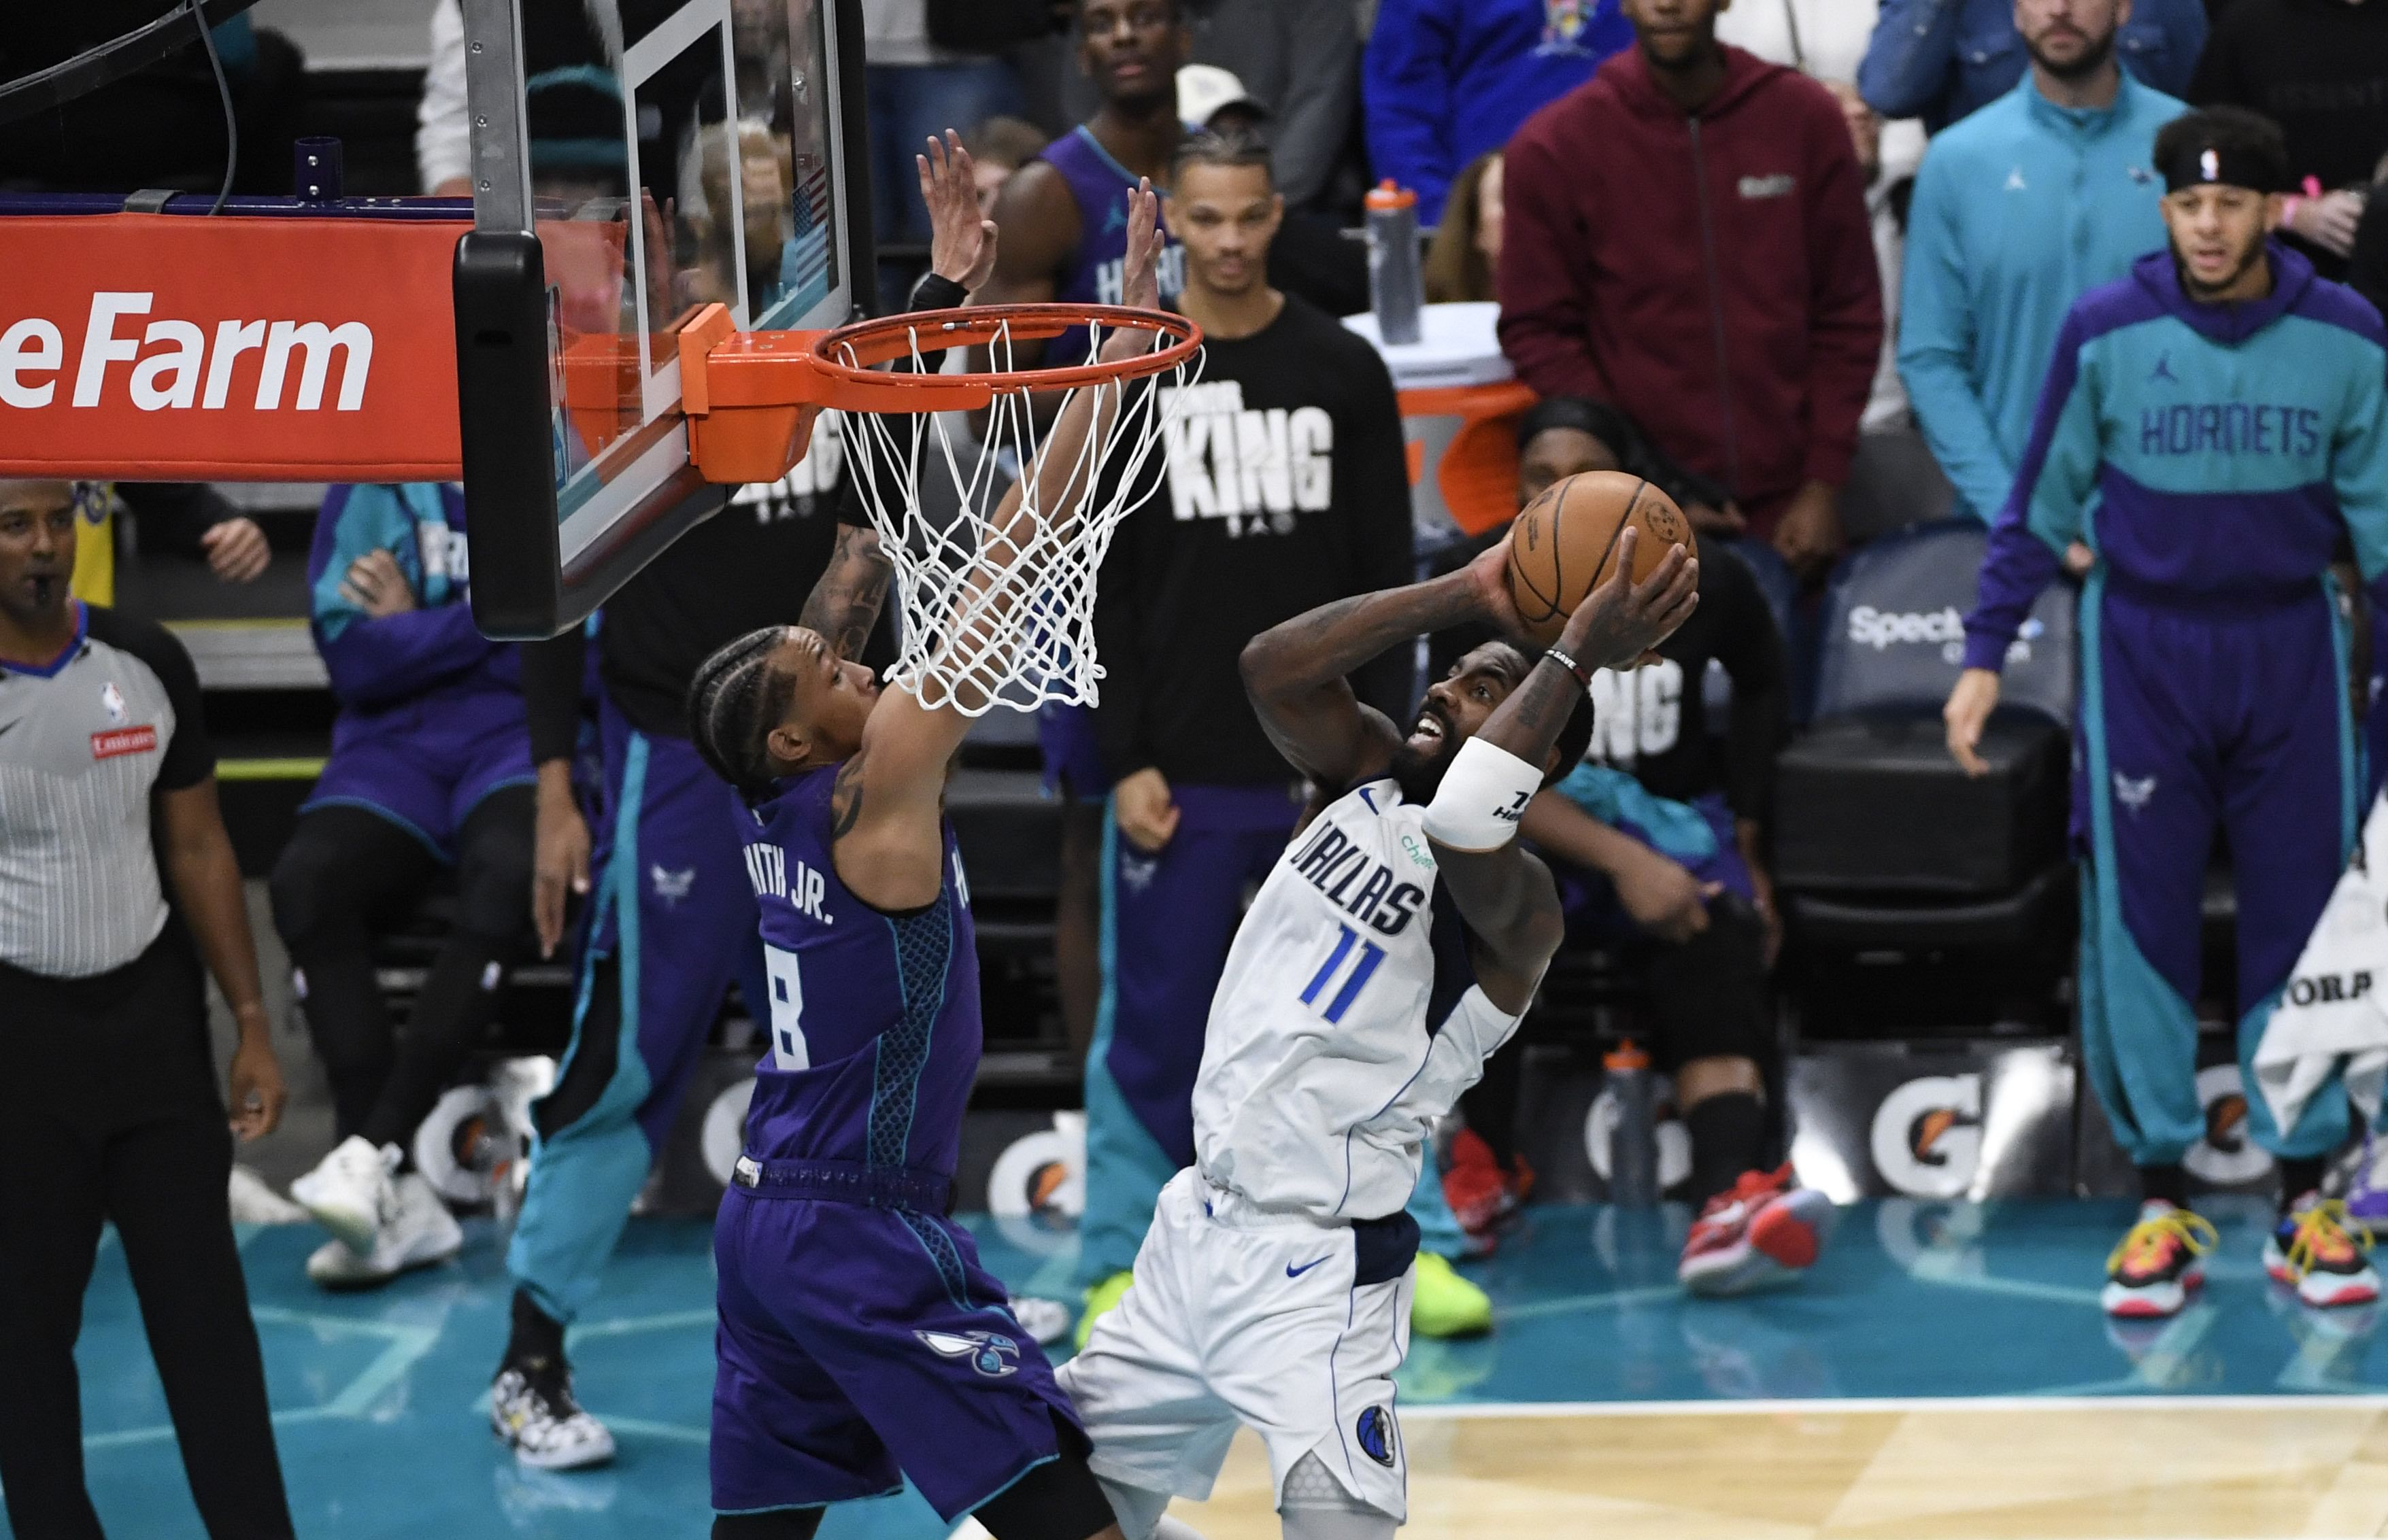
[[[1110,327],[1089,329],[1094,358]],[[989,356],[1013,368],[1008,325]],[[912,332],[915,370],[941,358]],[[888,683],[967,716],[1096,704],[1094,580],[1113,530],[1161,489],[1165,425],[1199,377],[1201,351],[1141,380],[1029,389],[1024,375],[993,394],[981,432],[960,411],[848,413],[855,485],[896,563],[903,654]]]

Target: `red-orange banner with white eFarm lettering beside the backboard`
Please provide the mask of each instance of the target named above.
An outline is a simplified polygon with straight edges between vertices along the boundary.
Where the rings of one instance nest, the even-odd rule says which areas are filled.
[[[0,220],[0,475],[461,475],[463,220]]]

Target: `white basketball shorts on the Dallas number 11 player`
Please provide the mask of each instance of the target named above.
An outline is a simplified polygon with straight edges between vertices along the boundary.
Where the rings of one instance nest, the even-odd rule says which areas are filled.
[[[1275,1497],[1309,1452],[1359,1502],[1409,1516],[1392,1370],[1414,1268],[1354,1285],[1344,1222],[1258,1215],[1182,1170],[1161,1191],[1137,1282],[1055,1373],[1096,1476],[1204,1499],[1237,1423],[1268,1444]]]

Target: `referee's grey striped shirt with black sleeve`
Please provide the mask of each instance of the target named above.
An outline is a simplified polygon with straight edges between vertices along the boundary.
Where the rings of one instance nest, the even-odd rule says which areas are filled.
[[[0,664],[0,962],[86,979],[148,950],[153,802],[213,774],[198,671],[162,626],[76,604],[53,661]]]

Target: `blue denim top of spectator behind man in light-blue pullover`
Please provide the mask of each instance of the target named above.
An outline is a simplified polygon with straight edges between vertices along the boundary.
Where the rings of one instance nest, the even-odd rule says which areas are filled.
[[[1882,0],[1875,43],[1858,67],[1858,91],[1884,117],[1920,117],[1939,134],[1968,112],[1987,107],[2023,79],[2030,62],[2025,7],[2032,0]],[[2104,26],[2109,0],[2080,0],[2075,31]],[[2183,96],[2207,45],[2204,0],[2130,0],[2121,7],[2113,50],[2135,81]],[[2047,29],[2047,19],[2039,21]]]

